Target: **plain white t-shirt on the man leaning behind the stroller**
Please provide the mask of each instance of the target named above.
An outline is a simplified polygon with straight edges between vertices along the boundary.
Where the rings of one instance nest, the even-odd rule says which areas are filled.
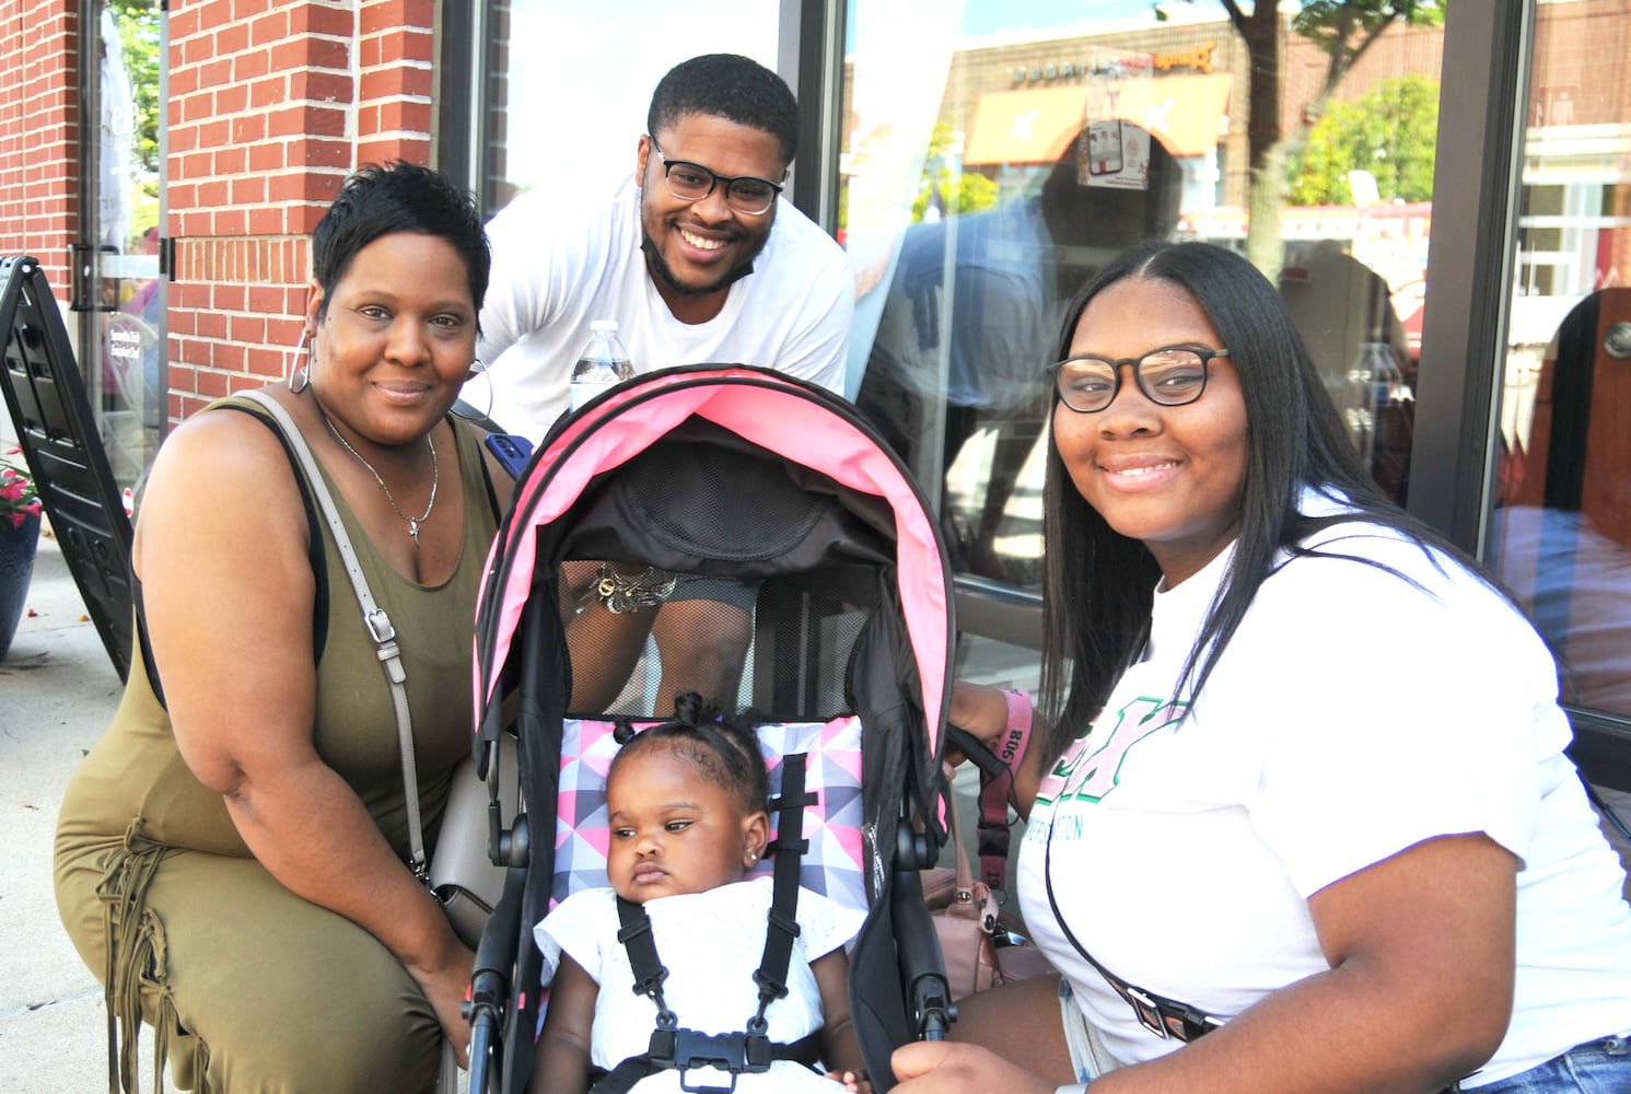
[[[476,357],[489,365],[493,414],[537,443],[566,409],[566,388],[594,320],[617,320],[636,373],[669,365],[744,364],[843,391],[855,274],[843,248],[791,202],[754,272],[706,323],[680,323],[639,249],[639,187],[610,201],[528,191],[489,223],[493,277]],[[486,406],[486,380],[466,401]]]

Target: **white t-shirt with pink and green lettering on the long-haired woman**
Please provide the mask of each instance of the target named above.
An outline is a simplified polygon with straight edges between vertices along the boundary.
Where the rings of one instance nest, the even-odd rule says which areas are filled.
[[[1305,499],[1303,510],[1329,510]],[[1138,1026],[1059,929],[1122,980],[1233,1017],[1328,968],[1308,897],[1422,840],[1520,859],[1512,1022],[1473,1089],[1631,1029],[1631,910],[1574,766],[1545,646],[1497,593],[1375,525],[1271,576],[1181,724],[1171,698],[1228,566],[1158,589],[1147,657],[1042,783],[1018,869],[1026,923],[1127,1063]],[[1050,828],[1052,822],[1052,828]],[[1052,840],[1049,840],[1052,832]],[[1049,856],[1052,866],[1049,869]]]

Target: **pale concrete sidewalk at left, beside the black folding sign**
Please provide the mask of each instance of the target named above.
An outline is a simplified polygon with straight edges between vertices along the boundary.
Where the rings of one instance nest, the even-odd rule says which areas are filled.
[[[57,920],[51,841],[69,776],[121,690],[62,551],[42,536],[0,662],[0,1089],[11,1094],[108,1089],[103,993]]]

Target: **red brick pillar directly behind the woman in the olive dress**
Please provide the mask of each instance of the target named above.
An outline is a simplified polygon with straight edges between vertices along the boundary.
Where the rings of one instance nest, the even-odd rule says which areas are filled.
[[[284,375],[346,174],[431,158],[432,0],[176,0],[170,414]]]

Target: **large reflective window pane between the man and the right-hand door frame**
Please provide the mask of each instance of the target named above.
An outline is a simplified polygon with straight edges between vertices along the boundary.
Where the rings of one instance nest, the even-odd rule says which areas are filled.
[[[1290,13],[1163,7],[850,5],[850,385],[966,576],[1039,582],[1042,367],[1075,290],[1140,238],[1223,243],[1277,277],[1355,447],[1406,497],[1442,13],[1333,55]],[[1258,124],[1254,57],[1284,73]]]

